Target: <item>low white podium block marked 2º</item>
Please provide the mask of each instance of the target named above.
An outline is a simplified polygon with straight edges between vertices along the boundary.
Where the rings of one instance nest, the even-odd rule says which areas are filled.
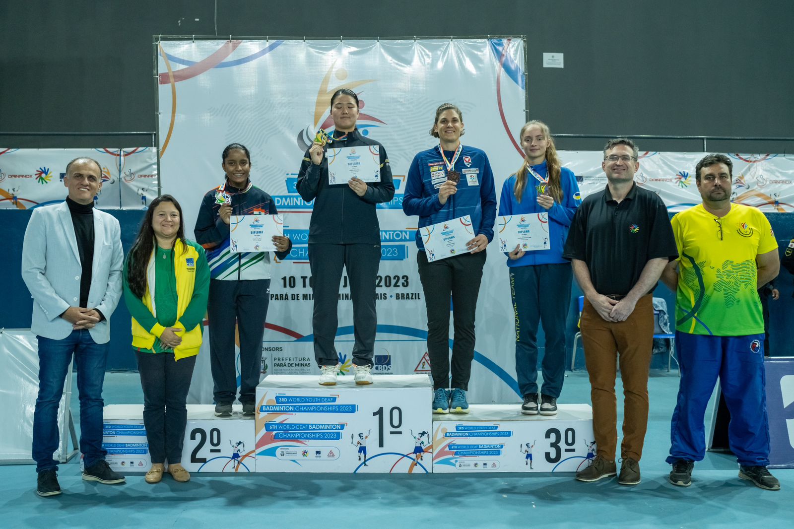
[[[111,469],[121,473],[145,473],[152,465],[142,404],[105,407],[102,448]],[[214,405],[188,404],[182,465],[188,472],[246,473],[256,469],[253,421],[243,418],[242,406],[233,415],[214,415]]]

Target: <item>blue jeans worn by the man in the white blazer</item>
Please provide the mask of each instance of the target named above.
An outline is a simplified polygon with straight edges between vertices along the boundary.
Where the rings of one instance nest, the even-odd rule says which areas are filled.
[[[71,355],[77,365],[80,398],[80,452],[86,468],[105,458],[102,450],[102,382],[110,343],[98,344],[87,329],[73,330],[63,340],[38,336],[39,396],[33,414],[33,459],[36,471],[58,469],[52,454],[58,450],[58,405]],[[64,425],[66,427],[66,425]]]

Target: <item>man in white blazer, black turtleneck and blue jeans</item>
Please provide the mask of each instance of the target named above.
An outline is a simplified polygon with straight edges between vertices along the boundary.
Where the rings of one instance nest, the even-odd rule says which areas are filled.
[[[39,343],[39,395],[33,415],[33,459],[39,496],[60,494],[52,454],[58,448],[58,405],[72,355],[80,398],[83,479],[123,483],[102,450],[102,382],[110,347],[110,315],[121,297],[121,229],[94,208],[102,168],[71,160],[67,199],[33,210],[22,245],[22,279],[33,296],[31,330]]]

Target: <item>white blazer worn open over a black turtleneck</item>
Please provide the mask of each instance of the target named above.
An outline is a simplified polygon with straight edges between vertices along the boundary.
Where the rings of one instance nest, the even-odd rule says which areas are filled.
[[[124,252],[121,228],[110,214],[94,207],[94,261],[88,308],[105,316],[89,330],[96,343],[110,341],[110,315],[121,298]],[[60,318],[69,307],[79,307],[80,254],[69,206],[64,201],[33,210],[22,243],[22,280],[33,296],[33,333],[52,340],[71,334],[71,323]]]

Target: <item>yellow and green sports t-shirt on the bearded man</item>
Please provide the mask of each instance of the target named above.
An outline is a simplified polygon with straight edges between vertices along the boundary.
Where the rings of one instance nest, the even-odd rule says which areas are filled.
[[[678,246],[676,329],[746,336],[764,332],[755,258],[777,249],[769,221],[754,207],[731,204],[717,217],[703,204],[673,217]]]

